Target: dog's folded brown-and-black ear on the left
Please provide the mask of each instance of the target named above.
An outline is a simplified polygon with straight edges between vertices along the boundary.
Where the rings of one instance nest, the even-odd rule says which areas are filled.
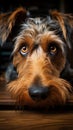
[[[0,41],[4,43],[7,38],[15,37],[19,24],[25,19],[26,10],[22,7],[13,12],[0,15]]]

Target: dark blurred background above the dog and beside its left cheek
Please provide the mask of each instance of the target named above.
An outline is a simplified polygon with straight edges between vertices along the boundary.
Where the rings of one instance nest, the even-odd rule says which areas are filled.
[[[37,14],[47,14],[48,10],[56,9],[64,13],[73,13],[72,0],[0,0],[0,13],[13,11],[15,8],[23,6],[34,16]],[[0,74],[6,70],[10,62],[12,46],[9,43],[0,46]]]

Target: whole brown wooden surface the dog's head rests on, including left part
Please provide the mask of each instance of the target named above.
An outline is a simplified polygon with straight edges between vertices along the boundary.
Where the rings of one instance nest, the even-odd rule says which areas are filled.
[[[5,85],[0,78],[0,130],[73,130],[73,96],[62,109],[20,111],[15,110]]]

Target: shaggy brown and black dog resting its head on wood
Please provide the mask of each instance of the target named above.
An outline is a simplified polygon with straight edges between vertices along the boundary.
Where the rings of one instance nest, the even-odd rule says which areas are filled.
[[[7,90],[20,106],[49,108],[68,102],[73,83],[71,14],[55,10],[30,17],[20,7],[0,15],[0,40],[14,46]]]

